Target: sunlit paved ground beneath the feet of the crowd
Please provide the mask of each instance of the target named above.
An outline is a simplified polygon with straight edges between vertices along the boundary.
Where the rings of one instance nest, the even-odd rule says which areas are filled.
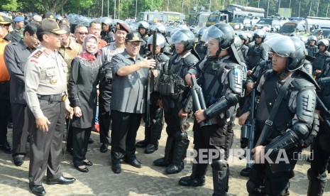
[[[138,131],[137,141],[144,138],[144,126]],[[239,150],[239,126],[235,126],[236,140],[233,148]],[[165,175],[165,168],[155,167],[153,160],[164,156],[166,133],[163,131],[158,151],[146,155],[143,149],[138,148],[137,157],[143,163],[143,168],[134,168],[123,163],[122,173],[114,174],[110,166],[110,151],[99,152],[99,134],[92,132],[94,143],[89,145],[87,158],[94,165],[89,167],[89,173],[80,173],[72,165],[70,154],[62,157],[62,172],[67,177],[75,177],[77,182],[71,185],[45,185],[47,195],[211,195],[213,184],[211,167],[207,173],[207,184],[204,187],[182,187],[178,180],[189,175],[192,163],[185,164],[185,170],[174,175]],[[192,139],[192,131],[189,131],[189,140]],[[9,129],[9,141],[11,141],[11,129]],[[111,147],[110,147],[111,148]],[[109,148],[109,149],[110,149]],[[189,146],[192,149],[192,142]],[[307,151],[302,153],[305,159]],[[191,159],[190,159],[191,160]],[[29,153],[21,167],[13,165],[11,155],[0,151],[0,195],[32,195],[28,188],[28,164]],[[229,195],[248,195],[246,192],[246,180],[239,175],[245,167],[245,162],[238,156],[231,156],[229,179]],[[308,180],[306,171],[309,163],[299,160],[295,168],[295,178],[291,180],[290,195],[307,195]],[[330,195],[330,187],[327,185],[324,195]]]

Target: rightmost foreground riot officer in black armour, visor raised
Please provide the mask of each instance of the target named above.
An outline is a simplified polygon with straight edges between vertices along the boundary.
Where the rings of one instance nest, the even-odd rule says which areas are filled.
[[[288,195],[298,153],[312,133],[317,84],[299,69],[304,62],[304,43],[299,38],[276,36],[266,40],[265,47],[273,70],[257,84],[256,129],[262,131],[255,137],[255,163],[246,187],[250,195]]]

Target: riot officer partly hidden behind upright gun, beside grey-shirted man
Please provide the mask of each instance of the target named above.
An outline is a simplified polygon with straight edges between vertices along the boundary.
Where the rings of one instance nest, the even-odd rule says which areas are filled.
[[[156,69],[159,75],[162,75],[164,70],[167,70],[168,60],[170,58],[163,54],[165,47],[164,36],[157,34],[156,38]],[[153,50],[153,36],[148,39],[148,50]],[[145,138],[143,141],[136,143],[136,147],[145,148],[145,153],[153,153],[158,150],[158,140],[160,139],[160,134],[162,134],[163,129],[163,108],[160,106],[160,94],[158,92],[158,78],[154,79],[154,84],[150,85],[150,119],[148,119],[149,124],[145,125]]]

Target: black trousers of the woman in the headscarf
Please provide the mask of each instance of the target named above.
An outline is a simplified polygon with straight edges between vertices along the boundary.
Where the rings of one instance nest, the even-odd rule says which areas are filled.
[[[73,164],[82,166],[83,160],[86,159],[89,137],[91,136],[92,127],[81,129],[72,127],[72,160]]]

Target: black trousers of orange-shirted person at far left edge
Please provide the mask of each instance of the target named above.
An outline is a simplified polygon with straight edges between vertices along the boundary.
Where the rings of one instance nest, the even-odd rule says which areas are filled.
[[[7,123],[11,116],[9,81],[0,84],[0,143],[7,141]]]

